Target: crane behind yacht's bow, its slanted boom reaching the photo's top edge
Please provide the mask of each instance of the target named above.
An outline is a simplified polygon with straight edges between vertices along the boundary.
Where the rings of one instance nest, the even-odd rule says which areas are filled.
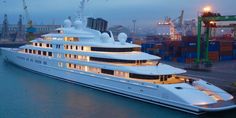
[[[23,2],[23,10],[25,12],[25,18],[27,20],[26,38],[28,39],[28,41],[30,41],[34,39],[34,33],[36,32],[36,28],[33,27],[33,21],[30,18],[26,0],[22,0],[22,2]]]

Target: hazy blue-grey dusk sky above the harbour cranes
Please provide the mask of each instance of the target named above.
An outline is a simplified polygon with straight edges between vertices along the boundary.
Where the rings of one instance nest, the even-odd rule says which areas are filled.
[[[79,1],[26,0],[30,17],[37,24],[51,24],[53,20],[62,24],[68,16],[75,17]],[[138,26],[150,26],[165,16],[177,18],[181,10],[185,10],[185,19],[196,18],[197,12],[206,5],[224,15],[236,14],[235,0],[90,0],[85,13],[108,20],[110,26],[130,26],[132,19],[137,19]],[[17,22],[19,14],[24,15],[22,0],[0,0],[0,8],[0,22],[4,13],[8,14],[11,24]]]

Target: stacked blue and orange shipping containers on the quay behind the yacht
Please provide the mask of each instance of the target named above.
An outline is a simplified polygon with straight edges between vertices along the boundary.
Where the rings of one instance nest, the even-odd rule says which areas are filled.
[[[194,63],[197,58],[197,39],[185,38],[182,41],[149,39],[133,40],[141,45],[141,51],[162,57],[166,61]],[[209,60],[212,62],[236,59],[236,42],[226,40],[209,41]],[[206,42],[201,44],[201,58],[205,56]]]

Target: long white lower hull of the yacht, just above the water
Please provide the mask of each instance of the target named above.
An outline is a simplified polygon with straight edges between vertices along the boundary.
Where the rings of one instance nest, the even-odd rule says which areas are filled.
[[[222,111],[235,108],[235,105],[220,108],[205,108],[179,102],[180,100],[178,97],[176,97],[176,99],[166,97],[174,96],[174,93],[167,91],[165,87],[162,87],[161,85],[127,80],[109,75],[70,70],[66,67],[60,68],[57,66],[59,61],[54,58],[39,57],[29,54],[26,55],[12,49],[3,49],[2,55],[9,63],[27,70],[51,76],[55,79],[80,84],[112,94],[157,104],[196,115],[205,112]],[[38,60],[40,60],[41,63],[36,63]]]

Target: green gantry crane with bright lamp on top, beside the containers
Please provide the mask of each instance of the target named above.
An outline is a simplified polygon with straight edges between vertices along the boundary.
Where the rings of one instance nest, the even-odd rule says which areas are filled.
[[[211,29],[216,28],[216,22],[221,21],[236,21],[236,15],[222,16],[219,13],[211,12],[211,8],[204,8],[204,12],[201,16],[198,16],[198,37],[197,37],[197,59],[195,63],[199,66],[199,64],[203,63],[205,67],[211,66],[211,61],[209,60],[209,40]],[[201,58],[201,38],[202,38],[202,26],[204,23],[205,27],[205,41],[206,41],[206,49],[205,55]]]

